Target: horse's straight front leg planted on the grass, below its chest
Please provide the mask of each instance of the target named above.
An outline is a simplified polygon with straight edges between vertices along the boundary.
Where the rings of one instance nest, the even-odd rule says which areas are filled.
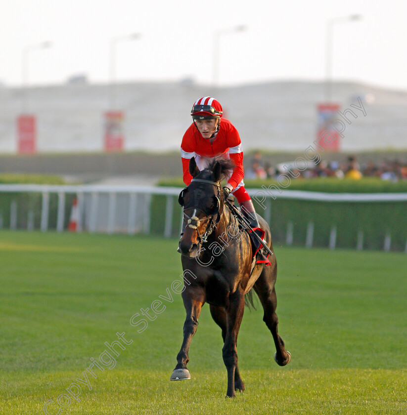
[[[222,349],[223,359],[227,370],[226,397],[235,397],[235,371],[237,368],[237,334],[239,333],[244,312],[244,293],[236,290],[229,296],[229,305],[226,308],[226,338]],[[240,376],[239,376],[240,377]]]

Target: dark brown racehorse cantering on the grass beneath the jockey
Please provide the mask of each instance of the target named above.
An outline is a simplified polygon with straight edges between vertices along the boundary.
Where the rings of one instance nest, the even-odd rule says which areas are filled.
[[[194,158],[189,162],[192,181],[179,196],[184,218],[187,219],[179,242],[184,271],[181,296],[186,319],[181,350],[177,355],[178,363],[170,377],[170,380],[190,378],[186,367],[189,346],[198,326],[201,308],[207,302],[213,320],[222,329],[222,355],[227,370],[226,397],[231,398],[235,397],[235,391],[243,392],[245,389],[237,365],[236,343],[243,318],[245,294],[251,295],[252,288],[263,306],[263,321],[274,340],[275,362],[285,366],[291,360],[291,354],[285,349],[284,341],[277,331],[275,255],[269,257],[269,266],[254,265],[256,259],[253,259],[248,232],[238,228],[236,217],[225,203],[221,180],[230,174],[232,168],[232,162],[226,159],[214,159],[201,171]],[[264,239],[273,253],[269,225],[260,215],[258,218],[265,230]],[[246,304],[250,302],[253,305],[251,297]]]

